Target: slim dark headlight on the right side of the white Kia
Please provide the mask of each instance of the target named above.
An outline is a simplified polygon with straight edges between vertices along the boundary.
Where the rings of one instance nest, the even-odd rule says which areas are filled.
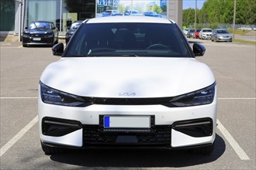
[[[174,97],[170,104],[175,107],[190,107],[199,106],[203,104],[211,104],[214,99],[216,82],[211,86],[192,93],[186,93],[178,97]]]

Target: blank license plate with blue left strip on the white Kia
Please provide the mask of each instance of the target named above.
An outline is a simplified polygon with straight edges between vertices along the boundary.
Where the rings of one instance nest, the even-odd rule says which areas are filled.
[[[150,128],[150,116],[104,116],[104,128]]]

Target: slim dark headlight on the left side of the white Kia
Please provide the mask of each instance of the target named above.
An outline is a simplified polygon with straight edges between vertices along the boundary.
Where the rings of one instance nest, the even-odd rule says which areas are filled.
[[[43,103],[46,104],[57,104],[62,106],[71,106],[71,107],[85,107],[90,104],[86,104],[85,101],[76,95],[70,93],[64,93],[59,90],[47,87],[40,82],[40,93]]]

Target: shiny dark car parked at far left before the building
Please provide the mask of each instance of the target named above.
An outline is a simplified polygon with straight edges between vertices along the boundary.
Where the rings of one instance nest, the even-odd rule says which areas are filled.
[[[22,46],[46,45],[54,46],[58,42],[59,30],[54,22],[31,22],[22,33]]]

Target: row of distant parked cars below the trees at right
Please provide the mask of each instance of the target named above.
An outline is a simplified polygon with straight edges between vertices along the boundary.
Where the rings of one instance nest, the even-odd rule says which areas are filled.
[[[183,32],[187,38],[232,42],[232,35],[227,29],[184,29]]]

